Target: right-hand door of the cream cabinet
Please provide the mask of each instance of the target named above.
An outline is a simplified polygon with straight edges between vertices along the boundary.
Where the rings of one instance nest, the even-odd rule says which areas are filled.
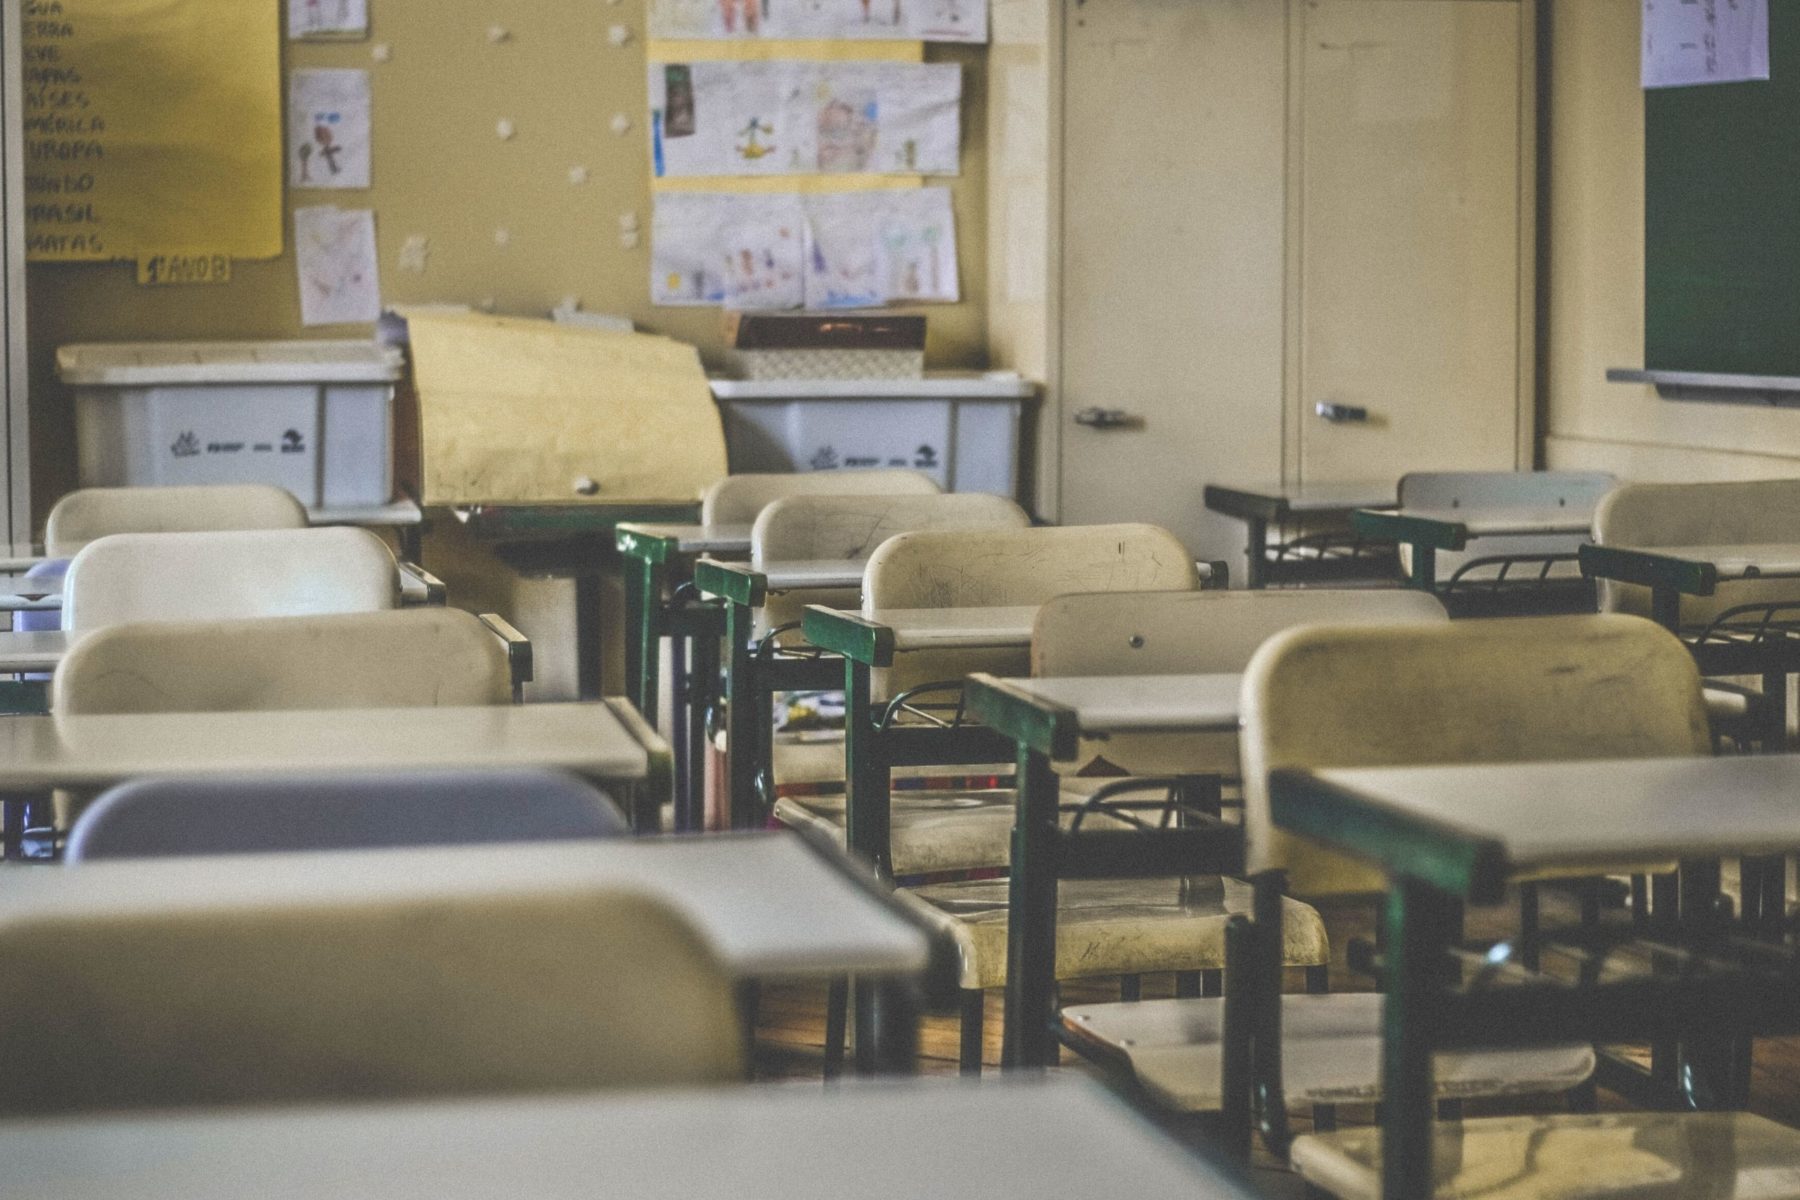
[[[1305,0],[1301,13],[1289,193],[1300,477],[1530,466],[1530,11],[1514,0]],[[1319,405],[1339,405],[1339,419],[1318,416]]]

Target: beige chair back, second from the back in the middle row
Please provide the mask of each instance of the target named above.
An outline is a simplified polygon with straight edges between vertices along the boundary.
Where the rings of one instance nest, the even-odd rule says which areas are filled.
[[[922,529],[1026,529],[1031,518],[1006,497],[981,491],[958,495],[882,497],[788,497],[756,518],[751,533],[751,565],[844,560],[868,561],[887,538]],[[790,596],[770,594],[761,612],[763,628],[799,621],[806,604],[855,608],[860,588],[812,588]]]

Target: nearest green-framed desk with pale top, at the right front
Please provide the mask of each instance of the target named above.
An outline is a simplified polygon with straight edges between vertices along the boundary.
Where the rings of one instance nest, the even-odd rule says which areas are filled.
[[[1393,882],[1384,914],[1381,1195],[1388,1200],[1431,1195],[1435,1045],[1620,1042],[1708,1029],[1717,1040],[1721,1029],[1733,1036],[1800,1029],[1795,957],[1771,943],[1737,952],[1715,916],[1703,927],[1705,943],[1683,943],[1697,948],[1683,957],[1679,975],[1516,982],[1507,954],[1487,955],[1494,986],[1451,988],[1444,972],[1456,941],[1456,905],[1498,903],[1508,878],[1537,869],[1683,860],[1683,919],[1705,921],[1714,914],[1719,858],[1800,849],[1800,757],[1276,770],[1269,795],[1276,826],[1372,862]],[[1539,1128],[1570,1137],[1562,1117],[1544,1121]],[[1625,1141],[1629,1128],[1636,1126],[1627,1126]],[[1800,1135],[1784,1137],[1793,1160]],[[1354,1159],[1345,1146],[1355,1141],[1301,1139],[1294,1162],[1316,1184],[1343,1180]],[[1577,1155],[1584,1144],[1588,1153],[1604,1153],[1607,1139],[1591,1130],[1575,1137]],[[1575,1195],[1577,1184],[1541,1195]]]

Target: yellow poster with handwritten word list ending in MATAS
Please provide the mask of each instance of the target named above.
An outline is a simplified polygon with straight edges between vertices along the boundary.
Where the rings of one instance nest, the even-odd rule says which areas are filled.
[[[23,0],[40,261],[281,254],[279,0]]]

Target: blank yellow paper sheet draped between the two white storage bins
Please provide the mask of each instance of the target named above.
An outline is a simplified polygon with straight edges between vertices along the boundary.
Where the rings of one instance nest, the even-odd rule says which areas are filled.
[[[691,345],[472,313],[407,326],[425,504],[680,504],[725,475]]]

